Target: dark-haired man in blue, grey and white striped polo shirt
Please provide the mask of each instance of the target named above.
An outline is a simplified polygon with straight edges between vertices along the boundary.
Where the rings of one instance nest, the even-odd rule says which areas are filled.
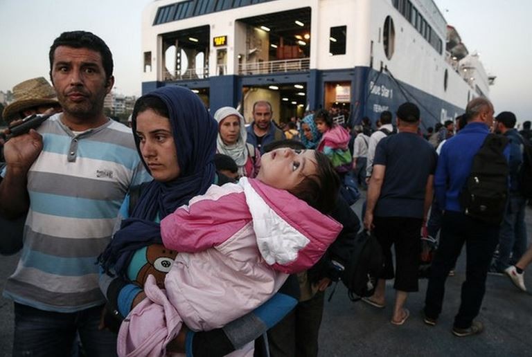
[[[98,329],[105,297],[96,259],[127,190],[148,175],[130,129],[103,112],[114,84],[105,42],[85,31],[62,33],[49,60],[63,112],[8,140],[1,172],[0,214],[28,212],[21,258],[3,292],[15,302],[12,354],[69,356],[78,335],[87,356],[112,356],[116,336]],[[29,99],[35,110],[55,103]],[[22,111],[15,104],[8,114]]]

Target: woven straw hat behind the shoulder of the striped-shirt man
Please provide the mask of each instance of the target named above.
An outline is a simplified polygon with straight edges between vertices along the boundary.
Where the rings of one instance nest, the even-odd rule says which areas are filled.
[[[32,107],[46,104],[59,104],[53,87],[46,78],[37,77],[25,80],[13,87],[14,101],[3,109],[3,120],[17,119],[18,113]]]

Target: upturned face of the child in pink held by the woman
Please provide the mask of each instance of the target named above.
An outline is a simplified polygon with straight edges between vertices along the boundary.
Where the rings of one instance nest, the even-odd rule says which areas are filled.
[[[281,190],[291,190],[317,172],[314,150],[276,149],[260,158],[257,178]]]

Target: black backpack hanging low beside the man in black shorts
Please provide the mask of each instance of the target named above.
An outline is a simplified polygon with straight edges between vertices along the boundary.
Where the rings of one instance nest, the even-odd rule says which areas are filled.
[[[382,248],[375,235],[366,230],[358,233],[340,277],[352,301],[373,295],[383,266]]]

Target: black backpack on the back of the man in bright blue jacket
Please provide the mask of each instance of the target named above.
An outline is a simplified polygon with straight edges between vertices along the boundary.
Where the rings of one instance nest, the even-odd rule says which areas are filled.
[[[508,198],[508,138],[489,134],[473,158],[471,172],[460,192],[463,212],[485,223],[499,225]]]

